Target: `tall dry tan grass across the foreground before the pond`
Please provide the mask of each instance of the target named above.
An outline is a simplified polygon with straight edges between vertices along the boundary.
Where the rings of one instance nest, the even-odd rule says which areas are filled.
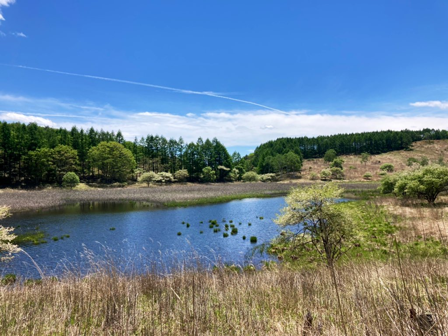
[[[438,334],[446,334],[448,262],[400,264],[336,268],[348,334],[415,335],[411,307],[433,314]],[[0,287],[0,334],[300,335],[309,312],[310,331],[341,335],[331,281],[324,266],[234,265],[165,275],[99,268],[85,277],[9,282]]]

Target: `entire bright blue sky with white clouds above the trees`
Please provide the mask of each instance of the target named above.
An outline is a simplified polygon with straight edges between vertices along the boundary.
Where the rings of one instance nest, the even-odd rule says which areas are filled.
[[[2,120],[216,136],[242,154],[284,136],[448,129],[444,0],[0,0],[0,13]]]

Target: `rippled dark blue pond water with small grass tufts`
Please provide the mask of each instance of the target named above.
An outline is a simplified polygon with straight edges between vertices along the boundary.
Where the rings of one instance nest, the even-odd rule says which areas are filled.
[[[132,202],[87,203],[15,214],[2,225],[20,226],[16,233],[38,227],[46,232],[48,242],[22,246],[29,257],[19,253],[0,272],[39,277],[34,263],[45,275],[57,275],[66,268],[86,274],[92,265],[101,262],[113,264],[124,272],[148,268],[169,272],[172,267],[201,265],[209,268],[218,263],[259,264],[268,257],[252,256],[255,244],[250,243],[249,238],[256,236],[260,244],[277,236],[279,227],[273,219],[284,205],[284,197],[163,209],[141,207]],[[213,233],[209,220],[217,220],[221,231]],[[233,223],[229,223],[230,220]],[[186,224],[182,224],[183,221]],[[249,222],[252,225],[249,226]],[[238,234],[231,235],[229,228],[229,237],[223,237],[226,223],[234,224]],[[112,227],[115,230],[110,230]],[[178,236],[177,232],[182,235]],[[66,234],[70,237],[51,239]]]

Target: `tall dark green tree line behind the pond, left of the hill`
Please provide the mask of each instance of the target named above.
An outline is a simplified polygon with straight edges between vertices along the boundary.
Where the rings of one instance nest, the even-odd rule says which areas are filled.
[[[148,135],[125,141],[122,133],[40,127],[36,123],[0,123],[0,183],[3,186],[62,183],[67,172],[103,182],[137,179],[142,172],[188,172],[199,181],[204,169],[212,181],[238,178],[250,170],[238,152],[229,154],[216,138],[186,143],[182,137]],[[235,171],[233,171],[235,174]],[[212,174],[213,176],[210,176]]]

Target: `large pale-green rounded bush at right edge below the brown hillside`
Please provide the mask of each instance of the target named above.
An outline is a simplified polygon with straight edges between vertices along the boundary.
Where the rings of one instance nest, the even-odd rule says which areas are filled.
[[[402,174],[393,190],[396,195],[423,198],[430,204],[443,191],[448,191],[448,167],[437,164]]]

